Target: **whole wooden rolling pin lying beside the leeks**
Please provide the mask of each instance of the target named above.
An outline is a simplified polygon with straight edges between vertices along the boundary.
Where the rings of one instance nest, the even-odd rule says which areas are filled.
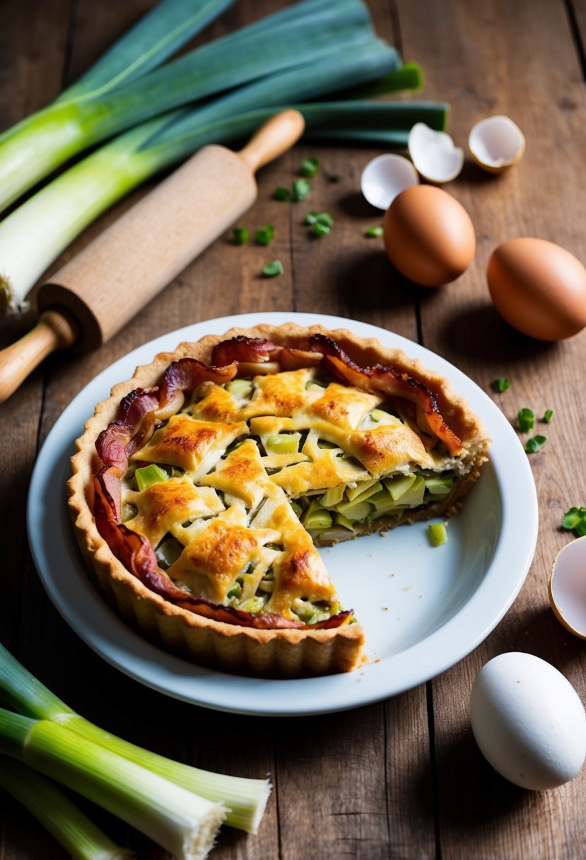
[[[54,350],[89,352],[115,335],[252,206],[255,171],[303,129],[286,110],[239,152],[205,146],[40,286],[39,322],[0,351],[0,402]]]

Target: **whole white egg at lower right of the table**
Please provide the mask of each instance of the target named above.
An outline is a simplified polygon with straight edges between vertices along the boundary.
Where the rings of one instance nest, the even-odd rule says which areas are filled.
[[[534,654],[511,651],[474,680],[470,719],[495,771],[525,789],[552,789],[586,759],[586,712],[570,682]]]

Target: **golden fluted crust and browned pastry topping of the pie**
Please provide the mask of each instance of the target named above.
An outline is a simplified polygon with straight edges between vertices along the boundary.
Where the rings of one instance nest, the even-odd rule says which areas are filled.
[[[161,384],[162,375],[174,361],[189,357],[210,365],[213,348],[239,336],[261,338],[278,346],[307,351],[312,335],[332,338],[360,367],[392,366],[400,374],[423,383],[433,392],[443,421],[462,445],[455,458],[462,474],[454,488],[438,497],[438,501],[381,516],[356,532],[324,532],[321,543],[335,543],[340,537],[386,531],[403,522],[453,513],[486,459],[487,439],[479,418],[473,415],[447,379],[427,371],[418,360],[409,359],[399,350],[386,349],[374,338],[358,338],[346,329],[329,331],[320,326],[304,328],[294,323],[278,328],[261,325],[254,329],[231,329],[223,335],[207,335],[197,343],[182,343],[174,353],[161,353],[150,365],[138,367],[130,380],[115,385],[111,396],[96,406],[95,415],[76,441],[73,475],[68,482],[70,513],[82,554],[90,569],[95,571],[107,598],[144,636],[199,665],[258,677],[293,678],[347,672],[359,660],[363,630],[359,623],[330,629],[305,626],[261,630],[204,617],[154,592],[119,561],[96,526],[93,486],[101,460],[95,441],[118,419],[122,398],[134,390],[148,390]],[[254,372],[258,372],[258,367]],[[196,476],[198,484],[194,486],[181,476],[174,476],[137,494],[136,499],[131,493],[127,494],[128,501],[137,501],[138,506],[135,516],[126,521],[127,527],[136,528],[156,544],[168,531],[175,533],[173,519],[185,518],[189,523],[194,517],[204,515],[200,512],[216,517],[213,528],[206,527],[201,533],[190,532],[182,556],[168,568],[173,580],[191,588],[193,593],[223,602],[235,572],[248,560],[253,560],[255,570],[266,570],[269,556],[275,555],[266,544],[277,544],[279,535],[287,534],[288,543],[281,548],[277,587],[269,599],[267,611],[287,611],[292,601],[308,594],[316,600],[335,599],[325,568],[320,568],[319,556],[318,561],[315,559],[311,537],[296,516],[291,515],[292,508],[284,501],[284,493],[295,498],[315,486],[327,489],[340,482],[374,480],[396,464],[401,468],[412,462],[423,468],[435,464],[435,455],[424,444],[425,434],[412,433],[406,426],[408,421],[403,423],[389,415],[380,427],[358,432],[360,416],[375,408],[384,396],[337,382],[331,383],[327,390],[315,390],[308,396],[311,375],[310,368],[292,370],[286,386],[279,384],[278,378],[271,374],[258,378],[254,398],[241,405],[237,414],[234,399],[223,387],[203,383],[198,402],[192,407],[192,417],[182,413],[168,417],[149,442],[131,455],[131,461],[180,466],[188,470],[190,476]],[[197,423],[192,418],[197,419]],[[266,451],[259,459],[253,440],[245,439],[229,458],[217,460],[217,451],[225,450],[242,434],[246,437],[247,433],[253,433],[266,439],[272,433],[296,433],[298,427],[306,426],[311,430],[303,451],[309,451],[311,456],[299,451],[272,454]],[[318,438],[327,439],[330,449],[317,445]],[[335,450],[335,445],[341,445],[350,457],[344,461],[338,458],[334,463],[332,449]],[[219,463],[213,471],[209,468],[211,456]],[[286,468],[271,476],[270,487],[274,489],[267,488],[266,470],[272,472],[284,465]],[[235,504],[220,511],[217,491],[228,494],[228,498],[235,494],[235,501],[242,501],[248,508],[258,504],[260,492],[266,494],[271,502],[269,521],[260,522],[252,531],[247,529],[245,523],[237,521],[243,505]],[[166,513],[170,509],[173,513]],[[229,520],[229,527],[226,520]],[[190,527],[194,528],[187,526]],[[211,558],[215,561],[210,574],[214,575],[202,573],[204,560]]]

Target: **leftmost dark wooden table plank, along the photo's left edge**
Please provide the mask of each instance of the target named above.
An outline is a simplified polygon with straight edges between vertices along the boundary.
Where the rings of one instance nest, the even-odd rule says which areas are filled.
[[[58,94],[64,75],[69,3],[3,3],[0,5],[0,130]],[[48,49],[47,46],[50,46]],[[34,315],[0,326],[0,346],[30,328]],[[0,522],[3,536],[3,600],[0,636],[21,659],[27,650],[21,618],[27,614],[25,567],[27,548],[25,509],[27,484],[39,433],[44,371],[34,373],[26,387],[0,405],[2,484]],[[38,645],[37,645],[38,648]],[[46,857],[57,860],[63,851],[48,839],[27,810],[3,793],[0,853],[7,860]]]

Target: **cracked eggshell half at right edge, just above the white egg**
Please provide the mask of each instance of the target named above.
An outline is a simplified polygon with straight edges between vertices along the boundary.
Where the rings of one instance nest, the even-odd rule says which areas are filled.
[[[575,636],[586,639],[586,536],[559,551],[547,593],[559,621]]]

